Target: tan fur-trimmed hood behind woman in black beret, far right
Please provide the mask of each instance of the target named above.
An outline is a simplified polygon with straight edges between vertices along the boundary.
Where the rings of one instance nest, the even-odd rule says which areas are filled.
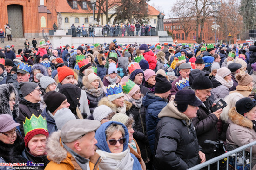
[[[247,127],[250,129],[252,129],[252,127],[253,127],[252,121],[247,119],[243,115],[237,113],[235,107],[233,107],[229,110],[228,116],[229,116],[229,119],[231,120],[231,121],[228,120],[228,123],[233,122],[236,125],[240,125],[240,126]]]

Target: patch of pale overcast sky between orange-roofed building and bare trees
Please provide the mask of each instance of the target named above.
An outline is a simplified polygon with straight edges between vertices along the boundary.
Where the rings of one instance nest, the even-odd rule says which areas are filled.
[[[166,19],[169,18],[169,10],[172,8],[173,4],[176,3],[176,1],[177,0],[150,0],[148,3],[149,5],[152,5],[154,3],[156,6],[159,6],[164,11],[164,18]]]

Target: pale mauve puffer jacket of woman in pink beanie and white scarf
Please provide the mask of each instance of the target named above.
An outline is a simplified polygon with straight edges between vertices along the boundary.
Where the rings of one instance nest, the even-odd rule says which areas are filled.
[[[218,100],[220,98],[224,99],[227,95],[229,95],[229,88],[222,85],[215,78],[212,78],[211,82],[212,82],[211,93],[213,94],[214,100]]]

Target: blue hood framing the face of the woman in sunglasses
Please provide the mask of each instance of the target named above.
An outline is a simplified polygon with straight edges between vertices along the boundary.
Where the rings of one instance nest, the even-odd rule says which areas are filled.
[[[126,128],[126,126],[120,122],[115,122],[115,121],[109,121],[106,123],[103,123],[96,131],[95,133],[95,138],[97,139],[98,143],[96,144],[96,146],[105,152],[111,153],[111,151],[109,150],[108,147],[108,143],[106,141],[106,129],[108,128],[108,126],[110,126],[111,124],[118,124],[118,125],[122,125],[124,132],[125,132],[125,138],[126,138],[126,142],[123,144],[123,151],[125,151],[128,148],[128,142],[129,142],[129,133],[128,130]]]

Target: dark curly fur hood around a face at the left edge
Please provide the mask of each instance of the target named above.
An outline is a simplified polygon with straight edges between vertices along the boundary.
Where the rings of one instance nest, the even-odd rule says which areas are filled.
[[[13,107],[13,112],[10,109],[9,99],[11,93],[15,94],[15,104]],[[0,114],[9,114],[14,119],[19,116],[19,101],[18,101],[18,93],[14,88],[13,84],[3,84],[0,85]]]

